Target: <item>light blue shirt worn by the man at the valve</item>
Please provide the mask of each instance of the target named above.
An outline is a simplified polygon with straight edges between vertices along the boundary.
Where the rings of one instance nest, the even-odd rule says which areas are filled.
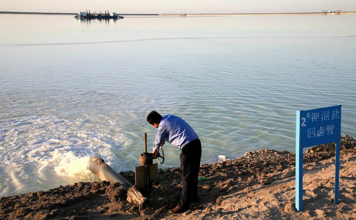
[[[153,150],[158,149],[164,139],[182,150],[184,145],[197,138],[197,133],[183,119],[175,115],[165,115],[159,122]]]

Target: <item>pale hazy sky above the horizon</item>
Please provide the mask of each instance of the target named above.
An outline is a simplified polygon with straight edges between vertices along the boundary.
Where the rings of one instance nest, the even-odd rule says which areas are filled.
[[[356,0],[1,0],[0,11],[152,13],[274,13],[356,11]]]

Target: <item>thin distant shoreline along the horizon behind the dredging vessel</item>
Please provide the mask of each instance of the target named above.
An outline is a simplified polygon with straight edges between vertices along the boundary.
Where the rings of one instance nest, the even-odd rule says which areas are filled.
[[[17,14],[17,15],[77,15],[77,13],[65,12],[23,12],[23,11],[0,11],[0,14]],[[136,15],[136,16],[183,16],[182,14],[120,14],[119,15]],[[242,14],[186,14],[184,16],[234,16],[234,15],[328,15],[328,14],[356,14],[356,11],[344,12],[298,12],[298,13],[242,13]]]

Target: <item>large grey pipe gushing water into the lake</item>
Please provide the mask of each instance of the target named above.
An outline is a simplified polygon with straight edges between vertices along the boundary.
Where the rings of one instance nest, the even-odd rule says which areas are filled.
[[[116,173],[108,164],[104,162],[101,157],[93,156],[89,159],[88,169],[96,177],[101,180],[108,181],[110,183],[119,182],[122,186],[129,189],[132,184],[122,177],[119,173]]]

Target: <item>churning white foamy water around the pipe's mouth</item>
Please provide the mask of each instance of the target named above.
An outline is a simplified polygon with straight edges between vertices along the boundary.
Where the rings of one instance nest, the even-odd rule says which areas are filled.
[[[2,122],[0,197],[97,181],[87,169],[89,158],[94,155],[109,165],[119,163],[111,143],[125,147],[130,138],[116,136],[119,128],[110,132],[107,126],[83,121],[43,116]]]

